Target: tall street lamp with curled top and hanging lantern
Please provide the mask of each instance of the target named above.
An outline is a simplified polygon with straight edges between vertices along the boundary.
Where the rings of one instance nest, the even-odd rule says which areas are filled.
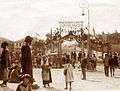
[[[88,10],[88,27],[86,28],[88,30],[88,37],[87,37],[87,53],[89,56],[91,56],[90,53],[90,9],[89,9],[89,4],[86,0],[81,0],[79,4],[80,8],[82,8],[82,16],[85,15],[84,9],[86,8]]]

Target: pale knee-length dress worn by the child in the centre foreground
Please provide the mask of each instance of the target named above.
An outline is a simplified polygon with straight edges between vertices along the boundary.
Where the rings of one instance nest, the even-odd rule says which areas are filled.
[[[65,64],[64,71],[65,70],[67,70],[67,74],[65,75],[65,82],[73,82],[74,77],[73,77],[73,67],[72,67],[72,65],[70,63]]]

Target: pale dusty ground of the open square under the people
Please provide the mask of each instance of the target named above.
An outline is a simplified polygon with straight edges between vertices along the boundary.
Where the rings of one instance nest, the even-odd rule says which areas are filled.
[[[33,91],[67,91],[64,90],[65,78],[63,69],[52,69],[52,81],[50,88],[43,88],[41,69],[34,69],[34,78],[40,89]],[[2,81],[0,81],[1,83]],[[8,87],[0,87],[0,91],[15,91],[18,84],[8,83]],[[74,82],[72,91],[120,91],[120,69],[115,72],[115,77],[105,77],[103,66],[98,66],[97,71],[87,72],[87,80],[81,80],[81,71],[74,70]]]

